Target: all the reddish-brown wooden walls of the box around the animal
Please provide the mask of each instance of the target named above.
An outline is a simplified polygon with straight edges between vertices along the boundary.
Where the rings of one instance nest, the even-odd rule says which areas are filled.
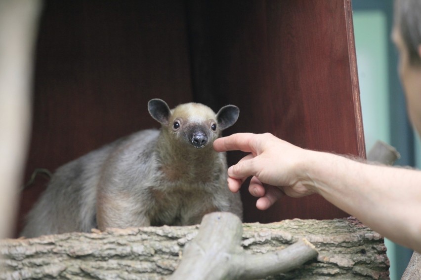
[[[235,104],[240,118],[226,134],[271,132],[364,157],[351,15],[350,0],[47,0],[25,179],[158,127],[151,98]],[[45,184],[38,178],[22,193],[18,228]],[[248,222],[347,216],[318,196],[267,211],[247,187],[242,197]]]

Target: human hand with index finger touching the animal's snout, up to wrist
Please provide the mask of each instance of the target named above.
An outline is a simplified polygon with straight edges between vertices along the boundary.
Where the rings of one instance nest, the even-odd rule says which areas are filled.
[[[217,152],[241,150],[249,152],[228,169],[228,187],[238,192],[242,183],[253,176],[249,192],[259,197],[256,207],[266,210],[283,194],[302,197],[315,193],[306,174],[306,157],[311,151],[299,148],[270,133],[239,133],[213,142]]]

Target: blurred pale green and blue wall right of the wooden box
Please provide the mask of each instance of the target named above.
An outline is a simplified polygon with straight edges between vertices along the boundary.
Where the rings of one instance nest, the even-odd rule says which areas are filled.
[[[370,1],[367,5],[358,0],[353,1],[354,35],[366,148],[370,150],[376,140],[383,140],[398,148],[403,157],[401,164],[414,165],[416,163],[413,160],[414,154],[418,163],[421,163],[421,148],[414,145],[416,141],[411,129],[408,128],[402,90],[399,89],[398,93],[396,91],[396,88],[400,87],[396,71],[397,59],[389,35],[393,3],[391,0],[382,0],[378,2],[379,6],[376,8],[376,2],[378,1]],[[390,279],[399,280],[409,262],[412,250],[389,240],[385,240],[385,244],[390,260]]]

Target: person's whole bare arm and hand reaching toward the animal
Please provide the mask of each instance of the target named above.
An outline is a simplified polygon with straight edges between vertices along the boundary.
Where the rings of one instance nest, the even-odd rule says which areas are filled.
[[[261,210],[283,194],[318,193],[384,237],[421,251],[421,171],[306,150],[271,134],[235,134],[216,140],[214,148],[250,153],[228,169],[228,183],[236,192],[253,176],[249,191]]]

